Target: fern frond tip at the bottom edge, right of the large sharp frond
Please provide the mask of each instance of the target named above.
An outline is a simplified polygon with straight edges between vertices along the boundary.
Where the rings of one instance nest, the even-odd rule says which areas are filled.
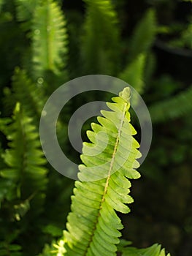
[[[165,249],[161,249],[161,245],[158,244],[153,244],[145,249],[126,247],[122,252],[122,256],[171,256],[170,254],[166,255]]]

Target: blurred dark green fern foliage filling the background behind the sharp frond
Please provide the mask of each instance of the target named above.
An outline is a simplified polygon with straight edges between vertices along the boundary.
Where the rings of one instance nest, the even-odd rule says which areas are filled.
[[[123,237],[191,255],[191,1],[1,0],[0,31],[0,255],[37,255],[62,236],[73,181],[47,164],[39,116],[58,86],[98,73],[134,86],[153,120]],[[108,95],[82,94],[59,120],[61,146],[76,162],[67,122],[93,99]]]

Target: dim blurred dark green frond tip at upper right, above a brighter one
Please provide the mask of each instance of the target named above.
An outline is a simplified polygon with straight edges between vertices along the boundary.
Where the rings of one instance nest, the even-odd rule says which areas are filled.
[[[150,49],[155,39],[156,26],[154,10],[147,10],[131,37],[129,60],[134,61],[139,53],[146,53]]]

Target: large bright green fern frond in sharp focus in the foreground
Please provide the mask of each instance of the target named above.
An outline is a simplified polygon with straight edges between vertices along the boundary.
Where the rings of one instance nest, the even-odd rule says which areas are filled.
[[[135,129],[130,124],[128,109],[130,90],[124,89],[113,103],[112,111],[102,110],[99,124],[91,124],[87,135],[91,143],[83,143],[80,181],[75,182],[72,212],[64,231],[66,254],[116,255],[120,229],[123,225],[115,211],[128,213],[126,203],[132,203],[131,183],[128,178],[139,178],[134,168],[139,143],[133,138]]]

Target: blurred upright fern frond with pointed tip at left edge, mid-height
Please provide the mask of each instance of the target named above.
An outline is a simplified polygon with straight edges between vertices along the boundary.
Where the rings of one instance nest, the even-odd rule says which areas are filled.
[[[31,118],[21,110],[19,103],[12,116],[12,123],[2,132],[7,135],[9,149],[2,154],[7,167],[0,171],[0,176],[10,183],[11,199],[18,198],[26,203],[26,206],[18,205],[15,208],[15,212],[22,217],[27,207],[26,200],[33,199],[38,206],[44,200],[42,193],[47,184],[47,170],[44,167],[46,160],[40,149],[36,127],[31,124]]]

